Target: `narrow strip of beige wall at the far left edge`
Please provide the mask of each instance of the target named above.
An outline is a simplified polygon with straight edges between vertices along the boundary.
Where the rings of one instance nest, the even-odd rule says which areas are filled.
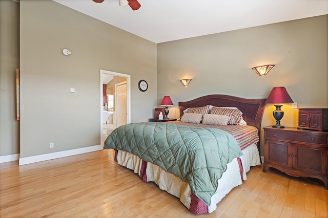
[[[19,68],[19,4],[2,0],[0,1],[0,156],[19,153],[16,68]]]

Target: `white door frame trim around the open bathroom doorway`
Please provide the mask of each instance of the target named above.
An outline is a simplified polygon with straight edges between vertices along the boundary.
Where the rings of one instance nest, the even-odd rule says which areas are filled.
[[[110,74],[113,76],[125,77],[127,79],[127,122],[131,123],[131,76],[128,74],[116,73],[112,71],[100,70],[100,143],[103,142],[103,74]]]

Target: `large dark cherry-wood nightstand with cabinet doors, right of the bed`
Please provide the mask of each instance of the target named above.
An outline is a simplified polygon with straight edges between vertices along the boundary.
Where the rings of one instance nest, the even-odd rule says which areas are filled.
[[[327,148],[327,132],[264,127],[263,172],[273,167],[290,176],[317,178],[328,189]]]

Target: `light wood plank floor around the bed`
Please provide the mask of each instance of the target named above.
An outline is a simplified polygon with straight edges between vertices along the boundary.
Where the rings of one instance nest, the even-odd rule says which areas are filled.
[[[18,166],[0,164],[0,217],[327,217],[318,180],[253,167],[211,214],[195,215],[113,162],[113,151]]]

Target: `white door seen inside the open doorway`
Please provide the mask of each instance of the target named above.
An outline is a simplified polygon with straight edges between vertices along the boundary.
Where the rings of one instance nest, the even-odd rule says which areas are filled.
[[[128,123],[127,82],[120,82],[115,84],[115,115],[116,128]]]

